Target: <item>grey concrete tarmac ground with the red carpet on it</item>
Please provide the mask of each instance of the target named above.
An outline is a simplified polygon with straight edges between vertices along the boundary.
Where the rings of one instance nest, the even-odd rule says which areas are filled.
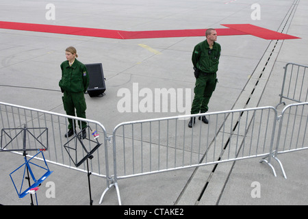
[[[218,36],[222,47],[219,83],[209,102],[209,112],[276,106],[283,66],[288,62],[308,65],[308,2],[304,0],[2,0],[0,6],[0,21],[18,23],[122,31],[225,28],[221,24],[249,23],[300,38]],[[111,135],[114,127],[125,121],[179,114],[140,110],[121,113],[118,90],[127,88],[132,92],[134,83],[138,83],[139,90],[190,88],[192,100],[192,50],[205,36],[121,40],[0,29],[0,39],[0,101],[4,103],[65,114],[58,81],[66,47],[75,47],[78,60],[84,64],[102,63],[105,96],[91,98],[86,94],[86,113]],[[260,83],[255,86],[257,79]],[[256,92],[252,94],[253,89]],[[277,110],[281,112],[283,105]],[[18,198],[8,176],[8,170],[18,166],[16,156],[0,153],[1,205],[29,205],[29,196]],[[216,168],[203,166],[123,179],[118,182],[120,197],[123,205],[307,205],[307,156],[307,150],[279,155],[287,179],[278,166],[274,177],[266,164],[246,159],[218,164]],[[39,205],[89,204],[84,172],[52,164],[49,168],[53,174],[47,181],[54,183],[55,197],[47,197],[49,187],[45,182],[37,192]],[[255,182],[260,185],[260,196],[254,198],[251,192]],[[91,176],[91,185],[93,204],[99,205],[105,181]],[[118,205],[114,188],[101,205]]]

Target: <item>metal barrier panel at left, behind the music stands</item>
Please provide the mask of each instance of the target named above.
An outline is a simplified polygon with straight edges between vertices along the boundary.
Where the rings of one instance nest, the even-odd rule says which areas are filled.
[[[65,138],[68,118],[76,123],[77,133]],[[112,186],[109,179],[108,138],[101,123],[1,102],[0,119],[0,151],[3,153],[19,153],[26,145],[25,151],[29,156],[34,156],[37,151],[44,151],[47,162],[81,172],[88,172],[90,169],[91,174],[106,179],[107,189]],[[82,131],[78,128],[81,121],[88,125],[86,138],[81,136]],[[21,130],[27,130],[27,134]],[[86,165],[86,159],[87,162],[90,159],[90,164]]]

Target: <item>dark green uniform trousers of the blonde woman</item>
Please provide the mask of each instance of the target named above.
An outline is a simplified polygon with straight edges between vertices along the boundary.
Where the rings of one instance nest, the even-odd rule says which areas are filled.
[[[75,116],[75,109],[77,117],[86,118],[86,99],[84,98],[84,92],[66,92],[64,91],[64,95],[62,96],[64,110],[67,115]],[[68,118],[68,129],[75,129],[76,122]],[[84,121],[79,121],[78,123],[79,129],[84,129],[87,126],[87,123]]]

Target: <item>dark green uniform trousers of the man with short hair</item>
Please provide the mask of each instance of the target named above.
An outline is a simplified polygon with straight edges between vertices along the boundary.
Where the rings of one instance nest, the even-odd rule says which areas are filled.
[[[190,114],[205,113],[209,110],[207,105],[217,82],[216,73],[200,73],[194,87],[194,101],[192,101]]]

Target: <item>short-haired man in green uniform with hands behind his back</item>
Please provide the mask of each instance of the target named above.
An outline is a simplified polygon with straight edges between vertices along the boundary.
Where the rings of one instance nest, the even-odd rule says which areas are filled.
[[[207,29],[205,36],[206,40],[198,43],[192,53],[196,84],[190,114],[205,113],[209,110],[207,105],[218,82],[216,72],[218,70],[221,48],[220,44],[215,42],[217,40],[216,30],[212,28]],[[202,116],[202,118],[199,116],[198,119],[202,120],[203,123],[209,123],[205,116]],[[190,118],[188,127],[191,128],[194,123],[196,123],[196,117]]]

